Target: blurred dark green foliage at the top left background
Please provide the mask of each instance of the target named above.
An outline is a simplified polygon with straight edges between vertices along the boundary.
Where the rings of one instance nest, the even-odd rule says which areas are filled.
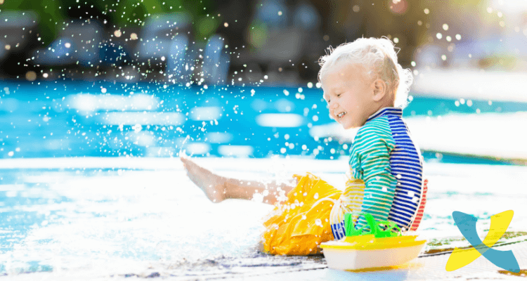
[[[221,1],[220,1],[221,2]],[[194,34],[204,41],[219,26],[214,16],[219,4],[212,0],[4,0],[1,11],[34,11],[39,15],[43,44],[56,39],[69,20],[107,20],[105,25],[141,26],[156,13],[186,12],[193,18]]]

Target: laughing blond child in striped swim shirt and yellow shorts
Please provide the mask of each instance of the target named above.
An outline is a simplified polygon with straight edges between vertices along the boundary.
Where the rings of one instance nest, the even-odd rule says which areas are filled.
[[[319,253],[320,242],[346,235],[346,212],[363,211],[403,230],[417,229],[422,217],[427,188],[422,157],[401,119],[412,83],[410,70],[397,63],[389,39],[361,38],[330,51],[320,58],[318,74],[330,116],[344,129],[360,127],[344,192],[312,174],[295,175],[296,187],[244,183],[182,158],[190,179],[214,202],[251,199],[259,192],[264,202],[274,204],[280,192],[287,194],[264,223],[263,249],[271,254]],[[362,215],[353,221],[356,228],[367,224]]]

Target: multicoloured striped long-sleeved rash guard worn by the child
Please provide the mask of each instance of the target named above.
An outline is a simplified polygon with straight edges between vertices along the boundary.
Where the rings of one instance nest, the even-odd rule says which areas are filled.
[[[335,239],[345,236],[349,211],[410,229],[423,192],[422,157],[402,115],[399,107],[384,107],[358,130],[349,160],[352,177],[330,215]],[[367,225],[362,215],[354,216],[354,223],[356,229]]]

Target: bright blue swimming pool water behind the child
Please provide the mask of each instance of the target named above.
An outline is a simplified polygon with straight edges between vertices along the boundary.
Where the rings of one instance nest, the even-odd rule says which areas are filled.
[[[410,95],[406,117],[527,111],[527,103]],[[307,86],[4,82],[0,120],[2,158],[169,157],[183,148],[195,156],[334,159],[349,147],[310,134],[332,120],[322,90]],[[441,161],[489,160],[447,155]]]

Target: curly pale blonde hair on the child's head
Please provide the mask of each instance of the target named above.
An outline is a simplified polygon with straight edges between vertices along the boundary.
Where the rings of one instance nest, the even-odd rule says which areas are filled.
[[[394,105],[405,107],[408,104],[408,92],[413,81],[412,72],[397,63],[395,46],[390,39],[359,38],[337,48],[330,46],[329,49],[330,53],[318,60],[319,82],[327,70],[337,63],[358,63],[365,67],[366,77],[370,78],[370,81],[382,79],[386,83]]]

